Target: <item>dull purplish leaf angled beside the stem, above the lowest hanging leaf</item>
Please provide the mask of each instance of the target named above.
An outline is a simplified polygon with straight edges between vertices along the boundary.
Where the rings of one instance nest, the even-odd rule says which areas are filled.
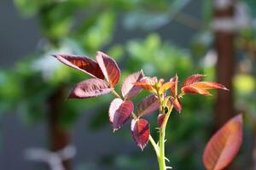
[[[159,100],[154,94],[142,99],[137,104],[137,116],[145,116],[159,108]]]

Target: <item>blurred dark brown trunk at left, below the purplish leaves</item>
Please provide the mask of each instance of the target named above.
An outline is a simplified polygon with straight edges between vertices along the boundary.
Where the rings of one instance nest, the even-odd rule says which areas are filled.
[[[70,135],[61,128],[61,104],[64,101],[65,88],[59,88],[49,99],[49,148],[51,151],[64,149],[70,143]],[[71,170],[70,160],[62,161],[65,170]]]

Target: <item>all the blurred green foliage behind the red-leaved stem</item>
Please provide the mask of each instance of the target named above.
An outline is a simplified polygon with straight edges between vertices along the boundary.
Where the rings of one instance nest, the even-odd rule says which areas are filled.
[[[12,70],[0,71],[0,113],[14,111],[27,123],[44,121],[49,111],[49,98],[59,88],[68,89],[79,81],[88,78],[79,71],[73,71],[61,65],[50,54],[80,54],[92,58],[97,50],[104,50],[117,59],[122,68],[122,77],[143,69],[147,76],[157,75],[169,80],[177,75],[180,82],[194,73],[207,75],[214,79],[214,55],[207,55],[212,48],[213,35],[207,24],[212,20],[212,1],[202,3],[202,22],[205,25],[197,31],[190,41],[190,48],[180,48],[175,42],[163,41],[157,32],[168,25],[191,0],[15,0],[20,14],[35,16],[46,41],[40,44],[37,54],[16,63]],[[255,16],[255,1],[247,0],[248,8]],[[254,25],[255,19],[253,20]],[[125,33],[143,32],[144,38],[128,39]],[[125,32],[125,33],[124,33]],[[178,32],[182,34],[181,32]],[[181,35],[182,36],[182,35]],[[122,37],[116,41],[116,37]],[[255,27],[239,32],[236,45],[244,47],[244,42],[255,43]],[[188,39],[189,41],[189,39]],[[253,46],[254,47],[254,46]],[[248,59],[252,53],[245,50],[239,57],[239,63]],[[253,61],[253,58],[250,58]],[[255,58],[254,58],[255,60]],[[255,61],[253,61],[255,62]],[[253,74],[253,76],[252,76]],[[241,72],[234,79],[236,104],[250,108],[255,114],[255,68]],[[246,84],[246,85],[245,85]],[[118,88],[119,89],[119,88]],[[146,95],[140,94],[139,99]],[[215,96],[215,95],[213,95]],[[94,111],[88,127],[100,130],[108,124],[108,103],[111,94],[90,100],[65,100],[61,106],[60,122],[63,127],[73,127],[81,113]],[[183,114],[174,112],[167,132],[167,157],[175,169],[203,169],[202,150],[212,127],[212,105],[215,97],[185,96]],[[102,107],[98,107],[102,105]],[[97,107],[96,107],[97,106]],[[156,114],[147,116],[151,123],[151,133],[156,136]],[[108,125],[109,126],[109,125]],[[130,132],[121,129],[118,135],[130,140]],[[135,146],[134,146],[135,147]],[[112,155],[111,160],[101,161],[106,168],[144,169],[157,162],[151,146],[142,154],[131,150],[129,156]],[[103,159],[104,160],[104,159]],[[154,160],[154,161],[153,161]],[[132,162],[132,163],[131,163]],[[132,167],[131,167],[132,165]],[[148,167],[148,166],[147,166]],[[81,165],[78,169],[99,169],[97,165]],[[105,168],[104,168],[105,169]]]

